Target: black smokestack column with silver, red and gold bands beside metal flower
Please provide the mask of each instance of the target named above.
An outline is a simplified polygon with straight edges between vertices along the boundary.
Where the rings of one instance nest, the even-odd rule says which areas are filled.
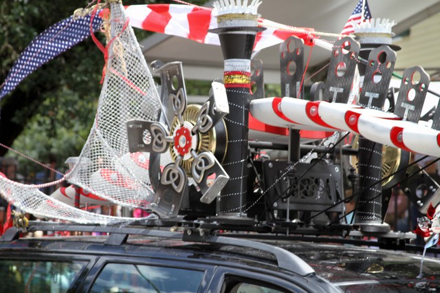
[[[225,117],[228,146],[223,169],[230,180],[217,197],[217,215],[243,216],[248,180],[248,124],[250,58],[259,28],[221,28],[219,34],[225,63],[223,76],[229,114]]]

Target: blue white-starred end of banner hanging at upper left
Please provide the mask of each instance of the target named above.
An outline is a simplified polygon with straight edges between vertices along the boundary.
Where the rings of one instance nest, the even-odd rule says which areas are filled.
[[[102,18],[95,17],[92,22],[93,30],[100,29]],[[77,43],[90,36],[90,16],[74,19],[68,17],[55,23],[39,34],[34,41],[20,54],[10,69],[5,82],[0,85],[0,99],[8,94],[26,76],[34,72],[41,65],[52,60]]]

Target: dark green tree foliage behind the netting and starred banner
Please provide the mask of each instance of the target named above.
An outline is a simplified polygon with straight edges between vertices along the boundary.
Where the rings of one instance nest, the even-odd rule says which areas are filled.
[[[188,2],[201,5],[206,1]],[[146,3],[172,1],[124,1],[126,5]],[[84,0],[1,1],[1,82],[38,34],[87,4]],[[135,30],[135,34],[137,39],[143,39],[148,32]],[[104,37],[100,39],[104,43]],[[69,156],[79,155],[94,120],[103,66],[102,53],[89,38],[30,74],[0,101],[1,144],[40,162],[47,162],[54,155],[59,161],[58,168]],[[0,147],[0,155],[6,152]],[[27,171],[35,166],[21,156],[9,155],[17,157]]]

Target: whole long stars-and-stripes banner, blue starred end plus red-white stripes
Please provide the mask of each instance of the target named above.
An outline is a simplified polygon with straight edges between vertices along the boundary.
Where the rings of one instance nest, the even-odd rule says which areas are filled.
[[[217,19],[211,8],[180,4],[150,4],[125,6],[125,9],[129,24],[135,28],[181,36],[199,43],[220,45],[219,36],[208,32],[217,28]],[[25,48],[0,85],[0,99],[41,65],[90,36],[91,30],[98,31],[102,18],[108,12],[109,10],[101,10],[92,18],[69,17],[39,34]],[[93,19],[92,23],[91,19]],[[294,28],[265,19],[259,19],[259,24],[267,30],[256,35],[254,51],[282,43],[292,35],[303,39],[307,45],[314,44],[314,30],[311,28]]]

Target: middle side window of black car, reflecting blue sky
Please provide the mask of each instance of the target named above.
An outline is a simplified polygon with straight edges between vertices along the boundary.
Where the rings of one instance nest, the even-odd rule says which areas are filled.
[[[155,265],[108,263],[90,292],[173,292],[199,290],[204,272]]]

